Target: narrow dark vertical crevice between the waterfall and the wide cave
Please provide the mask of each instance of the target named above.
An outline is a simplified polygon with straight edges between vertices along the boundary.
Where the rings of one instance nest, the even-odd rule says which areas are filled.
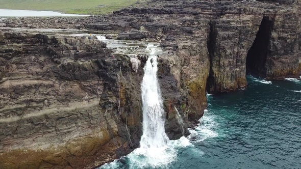
[[[207,48],[209,52],[209,61],[210,61],[210,70],[209,70],[209,76],[207,78],[207,86],[206,90],[208,93],[214,93],[216,90],[216,85],[215,85],[215,80],[214,80],[214,74],[213,74],[213,58],[216,56],[216,37],[217,37],[217,30],[216,30],[216,22],[211,21],[209,23],[210,25],[210,32],[209,32],[209,37],[207,40]]]

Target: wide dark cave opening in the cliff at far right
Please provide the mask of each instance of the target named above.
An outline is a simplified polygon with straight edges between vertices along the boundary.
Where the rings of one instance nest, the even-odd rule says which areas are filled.
[[[265,76],[266,59],[270,55],[270,38],[274,20],[268,16],[262,18],[256,38],[246,57],[246,73]]]

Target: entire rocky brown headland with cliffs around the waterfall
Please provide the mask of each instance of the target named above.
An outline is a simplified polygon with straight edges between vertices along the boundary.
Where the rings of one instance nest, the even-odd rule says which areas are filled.
[[[139,147],[148,43],[162,49],[170,139],[197,124],[206,92],[243,89],[246,73],[299,77],[300,4],[156,1],[108,16],[0,19],[0,168],[93,168]]]

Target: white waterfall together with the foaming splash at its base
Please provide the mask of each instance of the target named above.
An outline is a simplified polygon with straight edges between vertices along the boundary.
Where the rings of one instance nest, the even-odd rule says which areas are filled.
[[[141,83],[143,134],[140,148],[126,156],[127,166],[124,168],[169,168],[168,165],[177,158],[177,149],[191,145],[184,136],[178,140],[169,140],[165,133],[165,115],[157,78],[157,48],[152,44],[146,48],[150,53],[143,68]],[[123,165],[116,160],[100,168],[123,168]]]

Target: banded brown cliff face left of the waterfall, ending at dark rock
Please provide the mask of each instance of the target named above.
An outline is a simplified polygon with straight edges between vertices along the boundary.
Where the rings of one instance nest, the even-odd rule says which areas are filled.
[[[1,168],[83,168],[129,150],[126,124],[99,106],[105,43],[8,31],[1,43]]]

